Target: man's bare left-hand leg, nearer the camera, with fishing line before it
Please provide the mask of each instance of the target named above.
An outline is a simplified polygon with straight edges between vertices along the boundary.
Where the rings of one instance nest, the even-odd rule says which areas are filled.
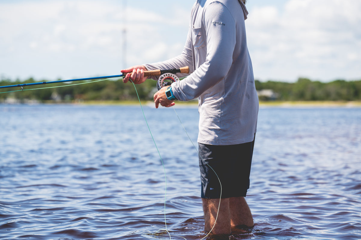
[[[231,234],[229,198],[221,199],[202,199],[204,212],[204,230],[212,234]],[[219,211],[218,211],[219,205]],[[217,216],[218,212],[218,216]],[[217,221],[216,221],[217,219]],[[214,225],[216,223],[216,225]]]

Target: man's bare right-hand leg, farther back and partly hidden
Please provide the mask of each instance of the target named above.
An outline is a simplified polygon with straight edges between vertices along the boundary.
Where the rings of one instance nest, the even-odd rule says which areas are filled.
[[[251,210],[244,197],[230,197],[229,209],[232,227],[238,225],[254,226]]]

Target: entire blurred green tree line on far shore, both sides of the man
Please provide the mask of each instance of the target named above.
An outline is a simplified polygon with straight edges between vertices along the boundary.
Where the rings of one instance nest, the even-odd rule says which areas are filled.
[[[38,81],[32,78],[25,81],[3,79],[0,86],[34,82]],[[0,89],[0,102],[7,99],[17,99],[18,102],[134,101],[138,100],[137,93],[140,100],[151,101],[157,91],[156,83],[147,80],[136,85],[136,89],[131,83],[124,84],[122,79],[24,86],[23,90],[20,87],[5,88]],[[262,101],[361,101],[361,80],[323,83],[299,78],[294,83],[256,80],[255,84]]]

